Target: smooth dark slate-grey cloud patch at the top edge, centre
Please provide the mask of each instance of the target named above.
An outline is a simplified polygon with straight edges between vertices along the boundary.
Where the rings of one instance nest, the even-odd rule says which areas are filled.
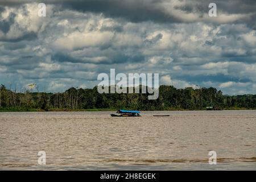
[[[152,20],[156,22],[179,22],[175,17],[170,17],[159,7],[161,1],[67,1],[61,5],[83,12],[104,13],[104,15],[114,18],[125,18],[131,22],[141,22]]]

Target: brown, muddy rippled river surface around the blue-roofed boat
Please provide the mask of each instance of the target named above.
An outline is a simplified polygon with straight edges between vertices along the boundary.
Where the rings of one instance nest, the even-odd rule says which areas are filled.
[[[0,113],[0,169],[256,170],[255,110],[111,113]]]

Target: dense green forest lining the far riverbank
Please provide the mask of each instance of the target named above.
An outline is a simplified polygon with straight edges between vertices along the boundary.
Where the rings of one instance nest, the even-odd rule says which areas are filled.
[[[148,94],[100,94],[93,89],[70,88],[63,93],[20,93],[1,85],[0,110],[205,110],[207,106],[222,109],[256,109],[256,95],[227,96],[216,88],[185,88],[161,85],[159,98],[148,100]]]

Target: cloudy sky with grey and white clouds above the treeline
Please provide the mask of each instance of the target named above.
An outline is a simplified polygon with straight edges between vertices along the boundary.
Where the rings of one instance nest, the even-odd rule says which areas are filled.
[[[63,92],[99,73],[256,94],[256,1],[0,0],[0,83]],[[209,3],[217,17],[208,15]]]

